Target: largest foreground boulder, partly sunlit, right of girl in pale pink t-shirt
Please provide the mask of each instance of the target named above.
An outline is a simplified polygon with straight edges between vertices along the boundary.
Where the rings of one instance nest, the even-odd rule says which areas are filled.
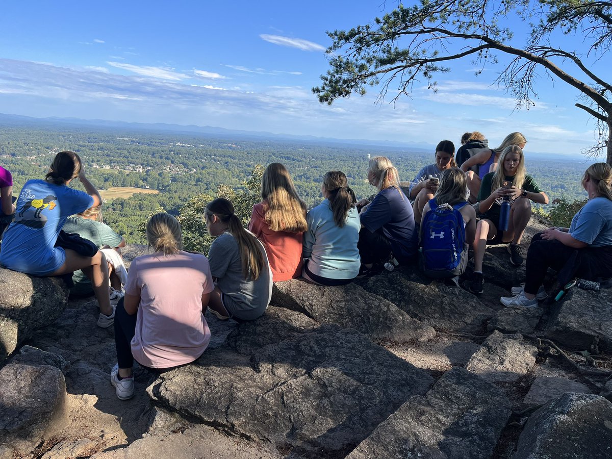
[[[161,375],[147,389],[155,403],[297,455],[341,457],[433,383],[355,330],[269,309],[228,337],[231,348]]]

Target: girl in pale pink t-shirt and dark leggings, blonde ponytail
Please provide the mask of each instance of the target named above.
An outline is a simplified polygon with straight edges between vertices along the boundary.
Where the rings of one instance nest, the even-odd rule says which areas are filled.
[[[181,250],[181,225],[165,212],[151,217],[146,236],[155,252],[132,261],[115,312],[111,384],[121,400],[134,396],[134,359],[160,373],[193,362],[211,340],[204,319],[215,288],[208,259]]]

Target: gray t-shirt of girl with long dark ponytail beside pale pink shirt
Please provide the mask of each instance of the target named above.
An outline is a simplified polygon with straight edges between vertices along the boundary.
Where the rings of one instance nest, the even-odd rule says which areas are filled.
[[[261,244],[259,244],[261,245]],[[256,280],[242,275],[242,260],[238,243],[230,233],[215,239],[208,251],[208,263],[212,277],[223,292],[223,305],[231,317],[253,320],[266,312],[272,296],[272,271],[267,262],[266,250],[261,245],[266,266]]]

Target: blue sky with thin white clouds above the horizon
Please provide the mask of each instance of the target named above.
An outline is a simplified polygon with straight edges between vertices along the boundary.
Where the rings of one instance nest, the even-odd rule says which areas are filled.
[[[504,88],[491,86],[496,69],[476,77],[469,59],[436,78],[437,93],[423,83],[395,105],[375,103],[375,88],[320,104],[311,88],[328,67],[325,32],[369,23],[395,4],[3,2],[0,113],[429,144],[480,130],[498,146],[520,131],[527,151],[560,154],[594,142],[594,123],[565,83],[542,76],[537,105],[515,111]]]

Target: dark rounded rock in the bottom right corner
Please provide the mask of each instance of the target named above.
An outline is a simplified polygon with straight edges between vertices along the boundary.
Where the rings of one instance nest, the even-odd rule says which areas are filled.
[[[612,403],[599,395],[564,394],[532,414],[513,459],[612,457]]]

